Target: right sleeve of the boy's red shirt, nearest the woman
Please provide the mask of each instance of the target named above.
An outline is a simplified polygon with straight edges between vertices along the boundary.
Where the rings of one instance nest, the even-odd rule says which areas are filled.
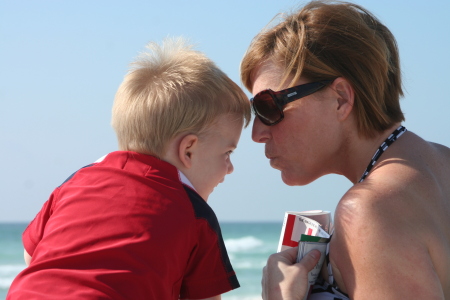
[[[199,219],[197,222],[198,244],[188,263],[180,299],[213,297],[239,287],[220,227],[211,226],[210,220]]]

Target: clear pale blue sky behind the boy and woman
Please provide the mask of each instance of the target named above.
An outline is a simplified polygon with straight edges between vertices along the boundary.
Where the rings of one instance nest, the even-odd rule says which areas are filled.
[[[239,63],[272,17],[304,2],[0,1],[0,222],[34,218],[78,168],[117,149],[114,94],[150,41],[184,36],[239,85]],[[362,0],[397,38],[406,127],[450,146],[450,1]],[[281,221],[334,208],[351,186],[325,176],[288,187],[244,130],[233,174],[209,203],[221,221]]]

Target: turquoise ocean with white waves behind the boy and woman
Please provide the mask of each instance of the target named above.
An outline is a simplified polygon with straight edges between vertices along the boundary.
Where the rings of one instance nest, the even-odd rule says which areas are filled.
[[[222,295],[223,300],[261,299],[262,268],[277,249],[281,225],[221,222],[228,255],[241,284]],[[25,268],[21,235],[26,226],[0,223],[0,299],[6,298],[14,277]]]

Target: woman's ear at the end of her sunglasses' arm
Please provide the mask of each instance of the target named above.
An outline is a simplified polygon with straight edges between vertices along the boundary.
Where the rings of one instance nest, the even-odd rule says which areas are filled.
[[[353,104],[355,103],[355,92],[350,82],[343,78],[336,78],[331,87],[337,93],[337,109],[338,119],[344,121],[350,115]]]

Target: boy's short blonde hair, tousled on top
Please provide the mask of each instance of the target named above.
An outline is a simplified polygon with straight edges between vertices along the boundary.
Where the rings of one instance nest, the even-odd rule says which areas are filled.
[[[202,134],[222,114],[236,114],[248,125],[245,93],[185,39],[167,38],[147,49],[131,64],[114,100],[120,150],[161,156],[170,139]]]

